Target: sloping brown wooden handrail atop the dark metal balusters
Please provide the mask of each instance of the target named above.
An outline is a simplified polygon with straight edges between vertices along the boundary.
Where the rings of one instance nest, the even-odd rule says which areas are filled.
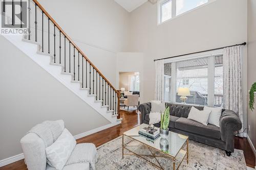
[[[86,57],[86,55],[80,50],[80,48],[75,44],[75,42],[68,36],[68,34],[66,34],[61,27],[58,25],[58,23],[50,16],[50,14],[41,6],[41,4],[36,1],[33,0],[33,2],[38,6],[38,8],[40,8],[42,10],[42,12],[44,12],[44,14],[52,21],[52,23],[59,29],[59,31],[72,43],[72,45],[76,48],[76,50],[83,56],[83,58],[85,58],[90,64],[91,66],[99,73],[99,75],[106,81],[106,83],[108,83],[114,90],[115,92],[118,94],[118,91],[114,88],[114,86],[103,76],[103,74],[101,74],[101,72],[96,68],[96,66]],[[119,100],[119,99],[118,99]]]

